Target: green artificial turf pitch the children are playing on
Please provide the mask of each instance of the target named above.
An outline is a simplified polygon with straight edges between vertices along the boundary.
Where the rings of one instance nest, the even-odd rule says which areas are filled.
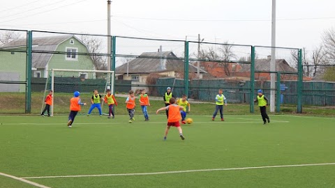
[[[335,187],[334,118],[270,115],[263,125],[260,115],[222,122],[190,113],[193,124],[182,125],[186,139],[172,127],[163,141],[165,112],[149,116],[146,122],[137,111],[128,123],[126,115],[78,115],[72,128],[67,116],[0,116],[0,172],[88,175],[27,179],[47,187]],[[286,166],[297,164],[327,165]],[[1,175],[0,181],[33,187]]]

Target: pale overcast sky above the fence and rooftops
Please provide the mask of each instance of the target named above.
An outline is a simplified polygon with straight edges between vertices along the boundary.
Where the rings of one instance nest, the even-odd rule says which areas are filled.
[[[335,26],[335,1],[278,0],[276,45],[307,47]],[[271,0],[113,0],[112,35],[271,45]],[[1,29],[107,34],[106,0],[1,0]]]

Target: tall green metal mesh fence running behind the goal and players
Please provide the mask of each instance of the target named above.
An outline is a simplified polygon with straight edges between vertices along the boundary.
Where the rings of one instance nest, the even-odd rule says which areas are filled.
[[[8,30],[0,29],[0,32],[5,31]],[[13,40],[0,46],[0,63],[15,65],[19,62],[15,67],[20,70],[12,69],[12,73],[0,70],[0,94],[8,92],[5,88],[15,86],[15,92],[24,94],[25,109],[11,113],[30,113],[31,93],[43,90],[41,79],[46,78],[47,72],[40,70],[36,62],[48,65],[45,70],[73,69],[73,64],[77,70],[114,70],[114,88],[117,93],[145,88],[151,96],[163,96],[170,86],[178,97],[186,94],[195,100],[213,101],[218,88],[223,88],[228,101],[249,104],[250,111],[253,112],[253,98],[258,89],[263,89],[268,97],[271,97],[271,91],[276,93],[276,111],[280,111],[281,104],[296,104],[299,113],[302,112],[302,105],[335,105],[334,83],[302,81],[301,49],[276,47],[276,59],[280,62],[278,66],[276,62],[276,68],[271,70],[271,47],[82,33],[13,31],[23,33],[24,40],[21,41],[24,42],[15,46],[11,45],[15,42]],[[38,45],[43,38],[50,39],[44,47]],[[57,44],[61,38],[66,43],[63,41]],[[107,52],[109,38],[112,38],[112,52]],[[53,49],[52,45],[57,47]],[[290,58],[292,53],[297,54],[297,61]],[[52,62],[44,62],[45,57],[49,56],[52,56],[49,58]],[[21,61],[17,61],[18,59]],[[87,67],[87,61],[93,61],[94,64]],[[284,65],[287,66],[286,69],[283,68]],[[11,77],[6,77],[6,74]],[[274,86],[269,82],[271,75],[275,78]]]

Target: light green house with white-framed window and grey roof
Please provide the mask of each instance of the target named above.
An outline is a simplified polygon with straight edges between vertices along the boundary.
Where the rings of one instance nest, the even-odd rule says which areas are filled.
[[[25,81],[27,67],[27,40],[18,39],[0,47],[0,79]],[[10,52],[8,52],[10,51]],[[79,53],[79,54],[78,54]],[[33,38],[31,55],[31,77],[46,78],[51,69],[94,70],[94,61],[87,46],[75,36],[50,36]],[[94,79],[92,72],[56,72],[59,77],[81,77]],[[8,84],[9,85],[9,84]],[[14,84],[15,85],[15,84]],[[6,86],[0,91],[24,91],[23,86]],[[23,84],[21,84],[23,85]]]

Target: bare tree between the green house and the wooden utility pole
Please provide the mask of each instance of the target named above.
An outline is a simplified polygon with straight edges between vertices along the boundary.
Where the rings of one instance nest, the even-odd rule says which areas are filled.
[[[102,40],[93,36],[82,36],[82,42],[87,46],[96,70],[107,70],[107,58],[101,54]]]

